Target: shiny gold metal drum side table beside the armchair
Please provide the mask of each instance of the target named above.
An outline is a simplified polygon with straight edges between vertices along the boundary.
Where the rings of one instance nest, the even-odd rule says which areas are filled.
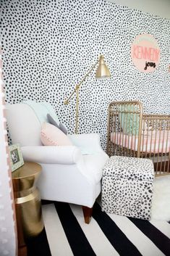
[[[12,173],[20,246],[25,244],[25,239],[37,236],[43,230],[41,197],[36,188],[40,173],[41,165],[35,162],[25,162]]]

